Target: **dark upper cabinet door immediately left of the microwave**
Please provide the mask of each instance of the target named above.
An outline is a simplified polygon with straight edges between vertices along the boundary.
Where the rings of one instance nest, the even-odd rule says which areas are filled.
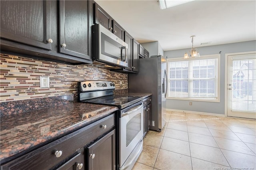
[[[88,2],[61,0],[60,53],[90,59],[88,49]]]

